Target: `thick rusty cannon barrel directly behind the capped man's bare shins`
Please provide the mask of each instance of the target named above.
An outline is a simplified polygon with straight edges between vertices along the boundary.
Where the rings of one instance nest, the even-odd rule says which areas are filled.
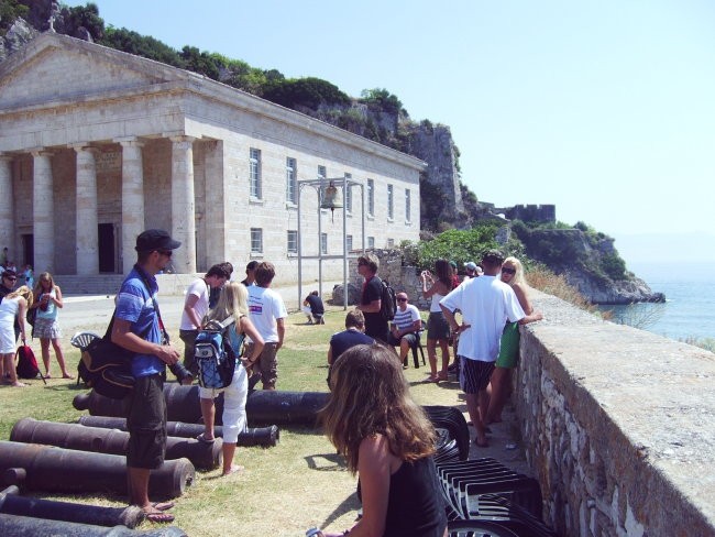
[[[191,485],[195,474],[188,459],[164,461],[152,470],[148,492],[178,497]],[[127,458],[0,440],[0,479],[4,485],[33,491],[127,494]]]

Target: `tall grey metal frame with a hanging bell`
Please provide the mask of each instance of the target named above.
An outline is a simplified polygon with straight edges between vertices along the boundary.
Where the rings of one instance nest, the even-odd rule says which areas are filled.
[[[336,186],[338,185],[338,186]],[[362,251],[365,252],[365,188],[362,182],[349,179],[348,177],[304,179],[298,182],[298,304],[302,304],[302,261],[308,259],[318,260],[318,292],[322,296],[322,261],[329,259],[342,259],[343,278],[343,310],[348,309],[348,215],[343,208],[342,199],[345,199],[348,188],[359,186],[361,191],[361,218],[362,218]],[[302,253],[302,212],[300,200],[305,187],[314,188],[318,194],[318,255],[304,255]],[[338,187],[342,189],[342,199],[339,198]],[[330,209],[331,216],[336,209],[342,211],[342,254],[327,255],[322,253],[322,218],[321,210]],[[331,220],[333,220],[331,218]],[[334,220],[333,220],[334,222]]]

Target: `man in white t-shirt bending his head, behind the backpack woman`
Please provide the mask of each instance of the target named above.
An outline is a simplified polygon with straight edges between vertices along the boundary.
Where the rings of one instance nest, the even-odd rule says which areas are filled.
[[[179,338],[184,341],[184,366],[194,376],[198,373],[198,366],[194,361],[194,343],[196,343],[196,336],[204,324],[204,318],[209,313],[209,295],[212,288],[222,287],[230,276],[231,273],[226,263],[219,263],[209,268],[204,277],[191,282],[186,289]]]

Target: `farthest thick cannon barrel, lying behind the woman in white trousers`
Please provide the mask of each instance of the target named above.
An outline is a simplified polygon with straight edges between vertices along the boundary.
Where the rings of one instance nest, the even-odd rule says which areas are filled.
[[[328,403],[327,392],[280,392],[261,390],[249,393],[245,412],[251,425],[309,425],[316,424],[318,410]],[[201,420],[198,386],[183,386],[169,382],[164,384],[164,397],[168,419],[197,424]],[[122,402],[103,397],[94,391],[75,397],[73,405],[78,410],[89,410],[92,416],[122,417]],[[223,412],[222,394],[216,398],[216,423],[221,425]]]

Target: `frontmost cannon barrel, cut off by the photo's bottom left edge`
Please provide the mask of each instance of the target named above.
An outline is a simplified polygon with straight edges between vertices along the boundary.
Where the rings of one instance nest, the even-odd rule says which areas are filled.
[[[176,526],[139,531],[124,526],[96,526],[0,513],[0,535],[32,537],[186,537]]]

